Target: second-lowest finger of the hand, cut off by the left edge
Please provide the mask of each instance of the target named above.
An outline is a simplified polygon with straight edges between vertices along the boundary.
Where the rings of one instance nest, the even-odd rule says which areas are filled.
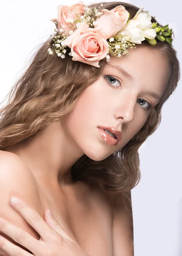
[[[35,248],[40,248],[40,241],[35,239],[26,231],[22,230],[20,227],[17,227],[11,222],[7,221],[6,219],[0,218],[0,231],[33,253],[36,253],[38,250],[36,249],[35,251]]]

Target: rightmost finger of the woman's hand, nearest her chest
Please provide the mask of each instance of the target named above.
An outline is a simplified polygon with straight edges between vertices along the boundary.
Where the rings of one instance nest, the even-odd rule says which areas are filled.
[[[46,223],[53,228],[57,233],[59,233],[61,236],[63,236],[64,238],[70,240],[71,242],[75,243],[77,241],[74,241],[69,235],[68,233],[66,233],[66,231],[63,229],[63,227],[60,226],[60,224],[57,222],[57,220],[54,218],[54,216],[52,215],[51,210],[50,209],[46,209],[45,213],[44,213],[44,219],[46,221]]]

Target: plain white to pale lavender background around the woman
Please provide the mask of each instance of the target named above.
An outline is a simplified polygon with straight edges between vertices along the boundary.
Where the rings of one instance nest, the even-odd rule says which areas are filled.
[[[182,60],[179,0],[132,0],[173,28]],[[51,18],[63,0],[0,2],[0,101],[24,71],[38,44],[54,33]],[[84,1],[85,4],[96,3]],[[36,48],[37,49],[37,48]],[[132,190],[135,256],[182,255],[182,81],[162,108],[162,122],[139,149],[142,180]]]

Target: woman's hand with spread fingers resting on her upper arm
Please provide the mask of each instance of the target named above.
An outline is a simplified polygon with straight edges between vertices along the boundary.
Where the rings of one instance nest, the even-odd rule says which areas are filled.
[[[14,203],[10,199],[10,204],[19,212],[23,218],[37,231],[40,240],[35,239],[26,231],[15,226],[6,219],[0,218],[0,231],[8,235],[18,244],[23,245],[35,256],[89,256],[80,245],[71,239],[63,230],[60,224],[49,214],[50,209],[46,209],[43,218],[24,201],[13,197]],[[15,200],[17,199],[17,202]],[[10,256],[31,256],[26,250],[11,243],[0,236],[0,248]]]

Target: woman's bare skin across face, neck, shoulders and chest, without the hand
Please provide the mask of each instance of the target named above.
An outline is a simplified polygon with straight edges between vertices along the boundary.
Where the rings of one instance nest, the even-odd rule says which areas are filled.
[[[125,69],[133,79],[113,65]],[[148,91],[162,96],[169,73],[166,58],[152,47],[111,58],[64,120],[51,123],[26,143],[0,151],[0,217],[40,239],[9,204],[9,198],[18,195],[42,218],[51,209],[63,230],[89,256],[133,256],[129,204],[124,204],[122,195],[72,183],[71,167],[83,154],[100,161],[131,140],[148,118],[147,102],[151,108],[159,102]],[[139,99],[143,99],[142,105]],[[97,129],[100,125],[122,131],[120,143],[105,143]]]

